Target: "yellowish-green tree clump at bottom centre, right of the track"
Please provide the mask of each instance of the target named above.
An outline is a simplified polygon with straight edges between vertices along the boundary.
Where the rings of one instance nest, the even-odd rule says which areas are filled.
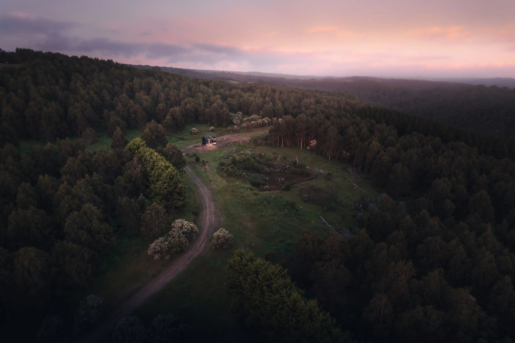
[[[235,295],[236,314],[253,332],[269,341],[352,341],[322,311],[306,300],[286,270],[250,251],[238,249],[227,262],[227,286]]]

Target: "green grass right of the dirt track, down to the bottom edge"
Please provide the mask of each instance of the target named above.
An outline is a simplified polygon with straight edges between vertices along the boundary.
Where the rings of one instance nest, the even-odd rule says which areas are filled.
[[[215,132],[221,135],[220,132]],[[256,133],[253,133],[256,134]],[[260,130],[257,134],[266,134]],[[196,143],[176,141],[181,147]],[[172,139],[173,140],[173,139]],[[290,191],[260,192],[243,179],[227,177],[217,170],[218,162],[225,156],[239,150],[264,152],[269,156],[288,161],[299,161],[311,168],[324,171],[320,177],[309,181],[319,187],[329,187],[338,195],[341,206],[336,211],[326,212],[313,204],[300,199],[299,187],[294,185]],[[361,194],[348,181],[348,165],[341,162],[328,162],[308,150],[296,148],[253,147],[251,144],[233,143],[210,151],[196,151],[200,161],[187,158],[188,164],[211,187],[216,204],[224,218],[223,227],[235,236],[234,247],[246,247],[256,255],[267,252],[291,252],[304,230],[326,235],[325,228],[318,217],[336,228],[353,228],[350,207]],[[207,163],[203,164],[202,160]],[[323,176],[332,174],[331,178]],[[357,181],[359,186],[372,194],[374,190],[365,182]],[[235,318],[230,312],[230,297],[225,288],[225,263],[231,251],[207,251],[205,256],[195,260],[185,272],[165,287],[145,304],[137,314],[146,322],[159,313],[171,312],[187,323],[188,340],[237,341],[241,332],[235,330]],[[202,325],[200,325],[202,323]]]

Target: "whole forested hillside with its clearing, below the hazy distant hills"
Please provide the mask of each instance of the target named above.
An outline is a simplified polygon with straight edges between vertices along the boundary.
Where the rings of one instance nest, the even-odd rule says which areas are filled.
[[[149,244],[175,219],[197,220],[186,165],[211,187],[234,245],[205,249],[112,341],[161,331],[277,341],[288,323],[309,337],[323,330],[328,341],[515,339],[513,140],[342,92],[28,49],[9,58],[16,65],[0,68],[7,341],[76,339],[106,318],[120,289],[165,269],[170,261],[153,260]],[[347,83],[365,93],[374,85],[386,100],[393,90],[409,97],[394,87],[404,81],[381,82]],[[411,84],[408,95],[433,91]],[[470,104],[511,94],[439,87]],[[204,149],[208,132],[248,139]],[[271,183],[276,173],[286,175]],[[189,244],[177,232],[166,237]]]

